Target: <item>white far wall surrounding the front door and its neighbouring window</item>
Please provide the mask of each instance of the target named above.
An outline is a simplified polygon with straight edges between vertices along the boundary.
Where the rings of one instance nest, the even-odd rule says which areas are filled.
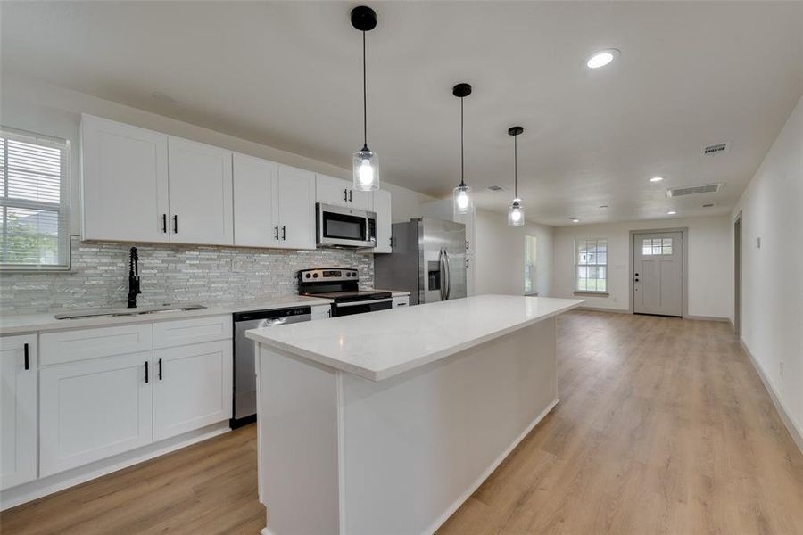
[[[731,317],[733,289],[730,260],[731,228],[728,216],[666,218],[601,225],[559,226],[555,229],[554,295],[572,297],[575,284],[575,240],[608,240],[608,297],[587,297],[586,306],[630,308],[630,231],[652,228],[689,228],[688,314]]]

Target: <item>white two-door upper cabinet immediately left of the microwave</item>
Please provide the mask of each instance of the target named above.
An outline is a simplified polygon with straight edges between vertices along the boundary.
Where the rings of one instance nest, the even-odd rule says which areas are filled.
[[[315,174],[242,154],[234,160],[235,245],[315,249]]]

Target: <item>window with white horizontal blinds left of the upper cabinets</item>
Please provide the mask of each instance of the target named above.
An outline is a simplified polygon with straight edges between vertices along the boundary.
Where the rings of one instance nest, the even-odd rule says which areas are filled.
[[[68,142],[3,129],[0,148],[0,268],[70,268]]]

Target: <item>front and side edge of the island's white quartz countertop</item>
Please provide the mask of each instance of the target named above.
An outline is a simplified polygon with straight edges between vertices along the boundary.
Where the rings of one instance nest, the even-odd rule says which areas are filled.
[[[567,300],[572,300],[572,299],[567,299]],[[585,300],[574,300],[574,301],[576,301],[576,302],[571,303],[571,304],[569,304],[569,305],[567,305],[565,307],[561,307],[560,309],[553,310],[553,311],[551,311],[549,313],[544,314],[543,316],[534,317],[534,318],[526,320],[526,321],[524,321],[524,322],[522,322],[520,324],[511,325],[509,327],[500,329],[499,331],[494,331],[493,333],[487,333],[484,336],[477,337],[477,338],[472,339],[472,340],[470,340],[468,342],[460,343],[458,345],[452,346],[451,348],[448,348],[448,349],[445,349],[445,350],[440,350],[440,351],[435,351],[433,353],[428,353],[428,354],[423,355],[421,357],[414,358],[414,359],[412,359],[412,360],[410,360],[408,362],[405,362],[403,364],[400,364],[400,365],[397,365],[397,366],[392,366],[392,367],[385,368],[385,369],[378,370],[378,371],[370,370],[368,368],[363,368],[363,367],[360,367],[360,366],[354,366],[354,365],[351,365],[351,364],[347,364],[347,363],[343,362],[342,360],[339,360],[339,359],[336,359],[336,358],[327,357],[326,355],[321,355],[320,353],[316,353],[314,351],[304,350],[302,348],[299,348],[299,347],[291,345],[291,344],[287,344],[285,342],[278,342],[278,341],[270,339],[270,338],[265,338],[265,337],[263,337],[263,336],[261,336],[259,334],[251,334],[251,333],[246,332],[245,336],[246,336],[246,338],[249,338],[250,340],[253,340],[255,342],[264,343],[265,345],[267,345],[269,347],[275,348],[277,350],[285,351],[286,353],[290,353],[291,355],[294,355],[295,357],[307,358],[307,359],[309,359],[309,360],[311,360],[313,362],[317,362],[318,364],[322,364],[324,366],[330,366],[330,367],[333,367],[333,368],[335,368],[337,370],[340,370],[342,372],[347,372],[347,373],[350,373],[350,374],[354,374],[354,375],[357,375],[357,376],[362,377],[364,379],[368,379],[370,381],[379,382],[379,381],[384,381],[385,379],[390,379],[391,377],[393,377],[395,375],[403,374],[405,372],[409,372],[409,371],[414,370],[414,369],[416,369],[418,367],[426,366],[427,364],[433,363],[433,362],[435,362],[437,360],[441,360],[442,358],[449,357],[451,355],[454,355],[455,353],[459,353],[460,351],[468,350],[468,349],[470,349],[472,347],[475,347],[477,345],[480,345],[480,344],[482,344],[484,342],[490,342],[490,341],[492,341],[492,340],[494,340],[496,338],[501,338],[502,336],[505,336],[506,334],[515,333],[516,331],[521,330],[521,329],[523,329],[523,328],[525,328],[525,327],[527,327],[529,325],[534,325],[534,324],[542,322],[542,321],[544,321],[546,319],[550,319],[551,317],[559,316],[560,314],[563,314],[564,312],[567,312],[568,310],[576,309],[577,307],[583,305],[583,303],[585,302]]]

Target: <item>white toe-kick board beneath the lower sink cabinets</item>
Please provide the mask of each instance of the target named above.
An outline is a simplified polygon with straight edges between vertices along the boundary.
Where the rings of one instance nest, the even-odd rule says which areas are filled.
[[[178,437],[161,440],[133,451],[127,451],[114,457],[101,459],[89,465],[78,466],[65,472],[54,473],[53,475],[17,485],[0,492],[0,511],[42,498],[59,490],[69,489],[80,483],[94,480],[108,473],[117,472],[131,465],[137,465],[137,463],[142,463],[177,449],[186,448],[186,446],[196,442],[211,439],[229,431],[231,430],[228,428],[228,420],[226,420],[225,422],[186,432],[178,435]]]

